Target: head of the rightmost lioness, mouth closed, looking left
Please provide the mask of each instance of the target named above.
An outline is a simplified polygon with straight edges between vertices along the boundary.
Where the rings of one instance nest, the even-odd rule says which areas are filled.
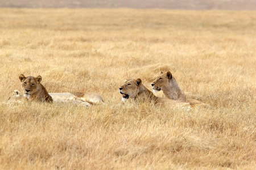
[[[155,80],[151,83],[152,89],[154,92],[159,92],[163,86],[166,86],[168,82],[172,79],[172,74],[170,71],[163,73],[161,71],[160,75],[155,78]]]

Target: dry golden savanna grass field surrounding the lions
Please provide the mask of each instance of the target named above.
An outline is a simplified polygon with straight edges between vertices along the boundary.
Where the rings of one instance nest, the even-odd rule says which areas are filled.
[[[0,169],[255,169],[255,54],[256,11],[1,8],[1,103],[24,74],[105,104],[1,104]],[[122,105],[168,70],[212,109]]]

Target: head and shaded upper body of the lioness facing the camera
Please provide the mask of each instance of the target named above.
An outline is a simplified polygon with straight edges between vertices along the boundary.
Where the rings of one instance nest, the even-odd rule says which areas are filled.
[[[22,90],[24,91],[23,99],[29,101],[46,101],[52,102],[52,97],[48,94],[46,88],[41,84],[42,76],[24,76],[19,75]]]

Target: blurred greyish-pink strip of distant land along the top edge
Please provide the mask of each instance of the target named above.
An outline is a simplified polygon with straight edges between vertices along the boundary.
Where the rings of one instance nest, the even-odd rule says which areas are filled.
[[[0,0],[10,8],[167,8],[174,10],[256,10],[255,0]]]

